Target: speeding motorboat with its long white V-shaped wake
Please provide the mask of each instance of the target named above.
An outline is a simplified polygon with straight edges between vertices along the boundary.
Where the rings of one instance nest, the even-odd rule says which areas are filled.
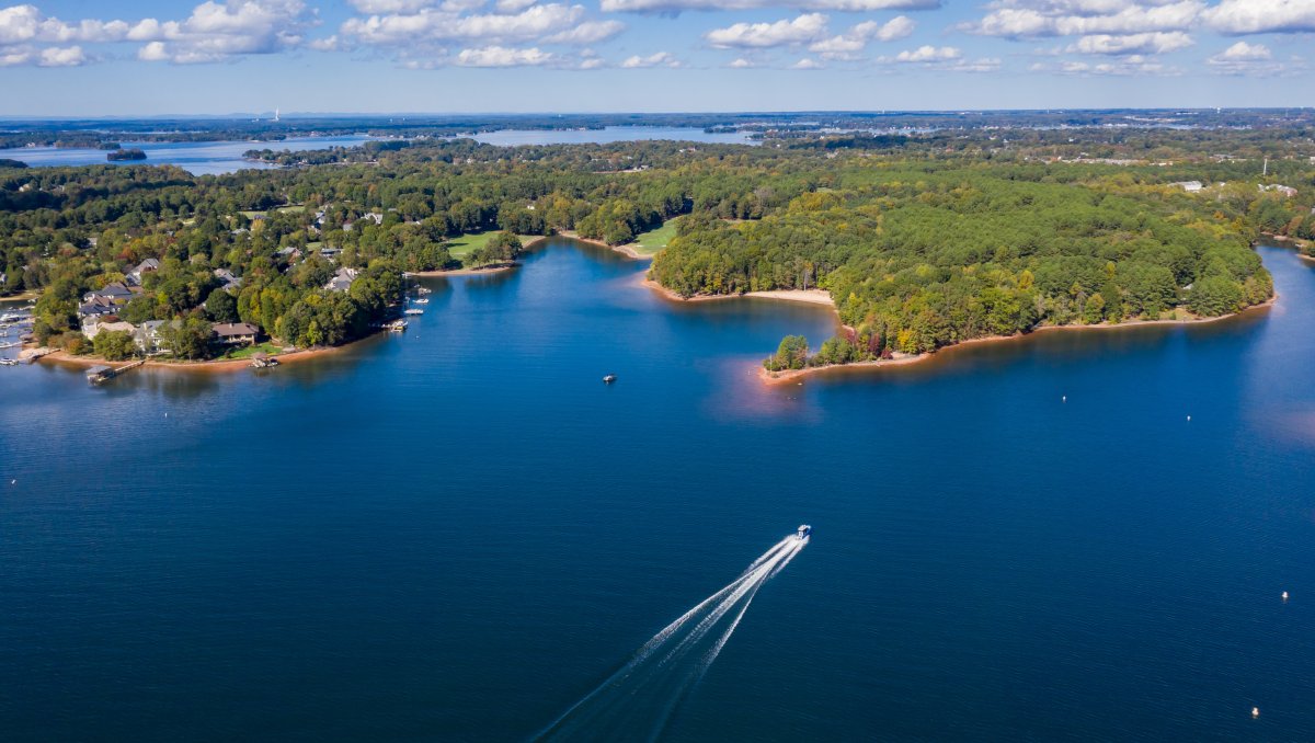
[[[663,627],[619,671],[573,704],[535,740],[656,740],[726,647],[763,585],[809,543],[772,546],[725,588]]]

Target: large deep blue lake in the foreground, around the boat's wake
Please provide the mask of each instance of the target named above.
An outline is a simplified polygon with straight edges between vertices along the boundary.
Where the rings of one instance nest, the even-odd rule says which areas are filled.
[[[807,522],[667,739],[1315,739],[1315,270],[1260,251],[1270,310],[776,388],[827,312],[563,242],[268,373],[0,368],[0,730],[523,739]]]

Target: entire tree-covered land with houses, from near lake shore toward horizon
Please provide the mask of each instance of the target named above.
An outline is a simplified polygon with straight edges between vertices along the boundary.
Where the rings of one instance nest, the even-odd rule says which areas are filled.
[[[1315,167],[1262,167],[1308,112],[1210,137],[1009,116],[768,146],[368,142],[208,178],[4,170],[0,289],[39,291],[36,343],[208,359],[231,356],[216,325],[268,351],[335,346],[396,317],[404,272],[512,264],[554,233],[630,250],[665,225],[650,277],[681,297],[830,292],[844,330],[817,352],[788,338],[767,362],[797,370],[1227,316],[1273,296],[1261,233],[1315,237]]]

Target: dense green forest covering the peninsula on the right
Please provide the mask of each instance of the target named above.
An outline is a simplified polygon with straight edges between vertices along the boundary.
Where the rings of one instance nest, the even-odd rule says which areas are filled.
[[[1270,197],[1252,191],[1233,210],[1181,189],[1030,172],[855,163],[834,189],[759,221],[682,220],[652,277],[684,296],[828,289],[852,331],[823,347],[825,363],[1039,325],[1214,317],[1273,295],[1247,220]]]

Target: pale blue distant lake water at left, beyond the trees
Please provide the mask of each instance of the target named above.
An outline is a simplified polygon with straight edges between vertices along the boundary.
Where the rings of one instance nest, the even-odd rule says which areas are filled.
[[[329,147],[355,147],[371,138],[366,135],[345,137],[295,137],[281,142],[121,142],[125,149],[135,147],[146,153],[145,160],[121,160],[109,164],[178,166],[192,175],[222,175],[245,168],[268,168],[263,163],[242,159],[247,150],[325,150]],[[107,164],[105,150],[89,147],[18,147],[0,150],[0,158],[22,160],[29,166],[68,167]]]

